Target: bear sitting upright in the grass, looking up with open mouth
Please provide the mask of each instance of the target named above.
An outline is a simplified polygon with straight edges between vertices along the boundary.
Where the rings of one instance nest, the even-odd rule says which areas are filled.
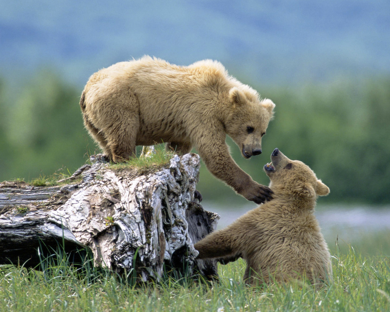
[[[273,199],[195,243],[197,258],[227,263],[242,257],[243,280],[251,285],[300,278],[331,282],[330,252],[314,216],[317,197],[328,195],[328,186],[278,149],[264,171]]]

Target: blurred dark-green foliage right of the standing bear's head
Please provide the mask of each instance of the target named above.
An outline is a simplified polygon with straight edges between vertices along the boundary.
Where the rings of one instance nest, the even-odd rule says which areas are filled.
[[[262,96],[276,103],[262,155],[244,160],[228,140],[234,160],[255,181],[268,185],[263,166],[278,147],[309,165],[329,186],[330,195],[321,201],[390,202],[390,78],[278,87]],[[223,193],[227,201],[236,199],[204,166],[198,189],[204,198]]]

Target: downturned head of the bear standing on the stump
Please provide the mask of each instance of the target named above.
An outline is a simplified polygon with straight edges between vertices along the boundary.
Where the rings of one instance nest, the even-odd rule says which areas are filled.
[[[229,102],[227,135],[238,145],[243,157],[261,154],[261,138],[273,117],[275,104],[270,99],[260,100],[259,94],[247,85],[231,88]]]

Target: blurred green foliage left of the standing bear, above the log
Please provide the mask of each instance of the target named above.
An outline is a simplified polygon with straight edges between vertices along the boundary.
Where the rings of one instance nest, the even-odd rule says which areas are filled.
[[[83,129],[80,94],[47,70],[21,85],[18,93],[2,93],[0,180],[49,176],[84,163],[93,144]]]

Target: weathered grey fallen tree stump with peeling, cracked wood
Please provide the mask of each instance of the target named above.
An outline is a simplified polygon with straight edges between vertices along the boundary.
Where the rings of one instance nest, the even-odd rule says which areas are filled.
[[[158,279],[172,269],[217,275],[216,262],[195,259],[193,244],[215,230],[219,216],[194,197],[199,156],[175,155],[166,168],[115,169],[102,158],[84,165],[78,183],[59,187],[0,185],[0,263],[36,267],[39,246],[89,248],[94,265]]]

